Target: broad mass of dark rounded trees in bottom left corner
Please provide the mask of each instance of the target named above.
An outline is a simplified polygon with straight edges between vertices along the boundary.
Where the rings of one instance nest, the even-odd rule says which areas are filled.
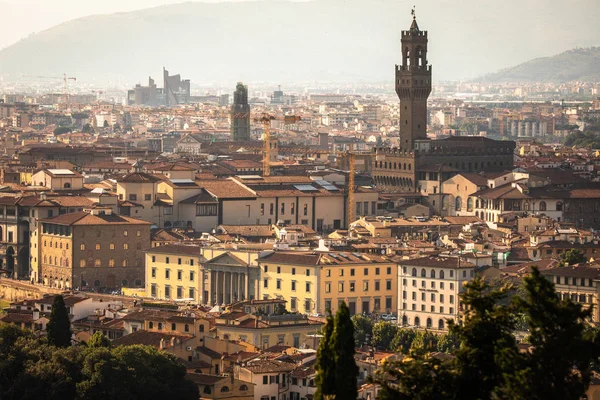
[[[199,398],[175,357],[149,346],[57,348],[30,332],[0,326],[0,398]]]

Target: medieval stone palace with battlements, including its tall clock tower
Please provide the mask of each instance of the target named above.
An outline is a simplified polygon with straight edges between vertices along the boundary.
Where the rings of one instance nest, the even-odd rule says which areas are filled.
[[[391,191],[418,192],[423,185],[448,179],[457,172],[511,169],[516,146],[513,141],[480,136],[427,138],[432,67],[427,63],[427,31],[419,29],[414,10],[410,29],[402,31],[401,43],[402,64],[395,68],[400,99],[399,146],[374,149],[375,182]]]

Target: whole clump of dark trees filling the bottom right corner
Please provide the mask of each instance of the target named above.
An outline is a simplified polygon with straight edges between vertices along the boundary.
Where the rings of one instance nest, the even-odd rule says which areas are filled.
[[[537,268],[523,286],[525,294],[506,304],[509,286],[467,284],[463,325],[450,324],[450,334],[438,338],[438,349],[460,343],[455,357],[413,346],[409,357],[386,363],[374,377],[383,388],[379,398],[580,399],[600,357],[600,335],[587,326],[591,311],[560,300]],[[529,327],[528,352],[513,337],[514,315]]]

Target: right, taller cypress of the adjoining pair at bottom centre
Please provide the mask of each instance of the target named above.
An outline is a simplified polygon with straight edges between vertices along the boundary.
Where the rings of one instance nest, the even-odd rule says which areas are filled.
[[[335,328],[331,341],[335,355],[335,398],[358,397],[358,367],[354,360],[354,324],[346,303],[341,303],[335,315]]]

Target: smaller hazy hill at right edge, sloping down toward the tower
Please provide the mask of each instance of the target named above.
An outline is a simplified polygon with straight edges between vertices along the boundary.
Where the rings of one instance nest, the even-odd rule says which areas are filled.
[[[577,48],[484,75],[486,82],[600,82],[600,47]]]

